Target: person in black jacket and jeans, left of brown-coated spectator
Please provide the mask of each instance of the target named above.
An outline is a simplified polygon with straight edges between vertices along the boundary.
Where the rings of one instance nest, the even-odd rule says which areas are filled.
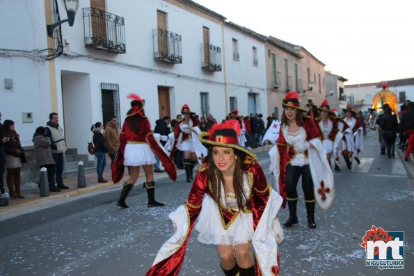
[[[106,152],[109,152],[106,147],[104,139],[104,125],[102,122],[96,122],[90,127],[90,131],[93,132],[93,145],[95,146],[95,157],[97,159],[96,173],[97,181],[99,183],[107,183],[108,180],[104,179],[104,170],[106,167]]]

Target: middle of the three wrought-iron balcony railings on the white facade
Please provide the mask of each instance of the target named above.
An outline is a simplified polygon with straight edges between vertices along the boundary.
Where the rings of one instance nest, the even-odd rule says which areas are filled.
[[[161,29],[152,30],[154,60],[182,63],[181,35]]]

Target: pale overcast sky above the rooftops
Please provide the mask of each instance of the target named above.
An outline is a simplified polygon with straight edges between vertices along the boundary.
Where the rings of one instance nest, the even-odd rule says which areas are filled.
[[[305,47],[345,85],[414,77],[414,1],[193,0],[262,35]]]

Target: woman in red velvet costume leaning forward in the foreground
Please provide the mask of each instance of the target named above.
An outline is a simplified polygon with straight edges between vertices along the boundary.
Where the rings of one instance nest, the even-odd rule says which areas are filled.
[[[178,275],[197,219],[198,241],[217,245],[226,276],[278,275],[277,243],[283,232],[277,213],[282,197],[267,184],[255,154],[239,145],[240,131],[239,122],[228,120],[200,133],[208,154],[188,200],[170,213],[174,234],[147,276]]]

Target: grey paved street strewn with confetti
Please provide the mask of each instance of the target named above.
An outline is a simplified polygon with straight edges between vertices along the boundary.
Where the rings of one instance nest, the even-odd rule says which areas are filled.
[[[267,151],[257,156],[268,172]],[[413,184],[404,167],[412,170],[413,163],[403,162],[379,155],[375,133],[368,133],[361,164],[353,161],[353,170],[335,173],[335,203],[328,211],[317,209],[315,230],[307,227],[298,188],[299,224],[285,229],[280,275],[413,275]],[[0,275],[145,275],[173,231],[167,214],[186,200],[190,185],[183,174],[174,183],[160,179],[156,199],[166,206],[152,209],[141,187],[136,184],[125,210],[115,206],[117,186],[1,221]],[[287,209],[279,216],[285,222]],[[372,225],[405,231],[404,270],[365,266],[360,243]],[[191,237],[180,275],[223,275],[216,248],[196,237]]]

